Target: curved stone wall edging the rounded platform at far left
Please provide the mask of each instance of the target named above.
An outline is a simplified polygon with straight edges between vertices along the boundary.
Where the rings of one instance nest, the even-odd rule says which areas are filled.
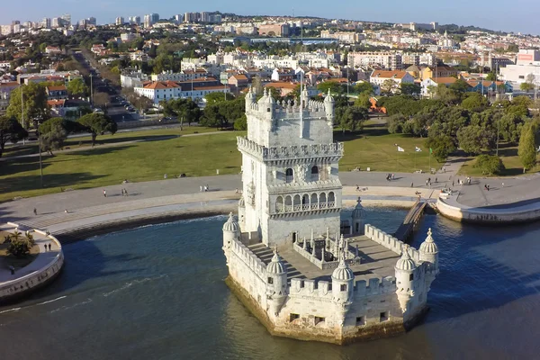
[[[64,265],[64,253],[62,252],[62,246],[58,239],[52,235],[47,235],[44,231],[38,229],[33,229],[31,231],[46,235],[47,238],[56,243],[59,248],[58,255],[49,262],[49,264],[40,268],[40,270],[0,285],[0,302],[14,300],[15,298],[39,289],[45,284],[49,284],[50,281],[56,278]]]

